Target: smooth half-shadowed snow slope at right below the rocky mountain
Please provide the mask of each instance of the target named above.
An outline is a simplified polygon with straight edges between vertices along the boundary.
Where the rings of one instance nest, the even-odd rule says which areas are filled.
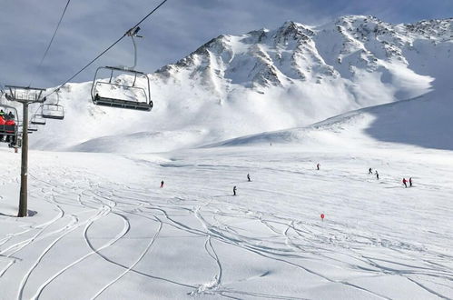
[[[272,144],[336,145],[352,149],[357,145],[374,147],[379,140],[453,150],[451,102],[451,98],[432,92],[397,103],[362,108],[309,126],[245,135],[205,147]]]

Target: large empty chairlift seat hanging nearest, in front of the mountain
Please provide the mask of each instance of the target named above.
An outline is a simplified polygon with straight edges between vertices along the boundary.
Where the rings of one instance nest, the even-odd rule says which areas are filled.
[[[110,73],[108,79],[98,78],[103,71]],[[139,83],[142,86],[137,85],[137,79],[140,80]],[[99,67],[94,75],[91,95],[95,105],[141,111],[153,109],[148,75],[131,69],[113,66]]]

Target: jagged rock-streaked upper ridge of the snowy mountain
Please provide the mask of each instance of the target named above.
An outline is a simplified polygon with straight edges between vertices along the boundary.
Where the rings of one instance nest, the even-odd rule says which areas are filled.
[[[225,80],[222,85],[256,90],[300,80],[317,84],[340,77],[350,80],[361,70],[376,72],[393,59],[408,65],[403,52],[414,39],[440,34],[445,39],[451,34],[449,21],[437,25],[443,31],[429,29],[432,24],[424,21],[405,29],[372,15],[346,15],[319,27],[289,20],[273,30],[219,35],[157,73],[174,77],[183,71],[200,78],[202,85],[218,88],[217,81]]]

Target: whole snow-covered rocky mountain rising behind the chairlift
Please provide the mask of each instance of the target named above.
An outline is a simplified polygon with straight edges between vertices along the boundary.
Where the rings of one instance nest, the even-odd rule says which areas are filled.
[[[32,145],[168,151],[310,125],[432,90],[448,97],[452,48],[453,19],[391,25],[353,15],[327,25],[286,22],[274,30],[221,35],[151,75],[149,114],[97,107],[90,83],[66,85],[64,122],[49,122]]]

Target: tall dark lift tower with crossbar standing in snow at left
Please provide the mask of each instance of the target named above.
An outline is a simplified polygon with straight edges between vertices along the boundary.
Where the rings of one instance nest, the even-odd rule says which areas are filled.
[[[19,197],[19,213],[17,216],[27,215],[27,169],[28,169],[28,105],[43,103],[43,88],[30,86],[5,85],[5,97],[9,101],[21,103],[24,108],[22,130],[22,162],[21,162],[21,191]]]

